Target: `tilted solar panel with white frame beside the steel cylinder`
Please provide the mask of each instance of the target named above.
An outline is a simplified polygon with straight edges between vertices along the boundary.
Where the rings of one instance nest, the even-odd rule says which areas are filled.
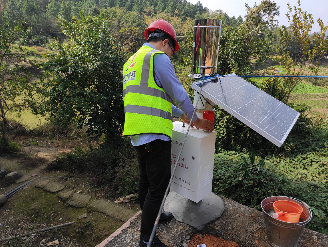
[[[201,86],[202,81],[191,85],[197,92]],[[205,80],[201,94],[278,147],[284,143],[300,115],[240,77]]]

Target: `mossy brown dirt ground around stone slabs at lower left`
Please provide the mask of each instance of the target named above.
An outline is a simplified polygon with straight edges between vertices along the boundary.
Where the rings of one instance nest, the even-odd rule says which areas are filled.
[[[64,190],[82,190],[81,193],[92,196],[90,202],[99,199],[116,200],[117,198],[109,198],[107,196],[105,191],[108,191],[108,188],[93,186],[91,183],[92,178],[89,174],[45,170],[48,162],[53,159],[55,154],[69,151],[71,150],[68,147],[58,146],[58,144],[51,142],[46,144],[43,142],[42,145],[38,143],[35,145],[30,144],[23,146],[21,154],[16,155],[16,157],[0,157],[0,166],[5,168],[8,173],[17,171],[21,176],[38,174],[35,176],[39,177],[38,179],[59,176],[47,179],[65,185]],[[33,163],[33,161],[35,162]],[[20,184],[23,183],[25,182]],[[56,196],[57,193],[36,188],[35,184],[36,182],[32,181],[11,196],[7,203],[0,207],[0,239],[71,221],[75,222],[63,228],[31,235],[21,240],[10,240],[4,244],[0,243],[0,247],[48,246],[49,242],[57,239],[59,244],[55,246],[95,246],[124,223],[89,207],[78,208],[69,206],[67,201],[63,201]],[[0,187],[0,195],[8,193],[17,186],[17,184],[12,183]],[[133,208],[136,212],[140,210],[139,205],[132,202],[125,203],[124,207]],[[77,219],[78,216],[84,213],[87,213],[86,218]]]

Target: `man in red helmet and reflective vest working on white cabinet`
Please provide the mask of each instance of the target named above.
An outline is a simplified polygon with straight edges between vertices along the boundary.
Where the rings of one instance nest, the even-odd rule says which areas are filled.
[[[173,26],[154,21],[146,29],[147,40],[123,66],[124,136],[130,136],[138,154],[138,195],[141,214],[138,247],[146,247],[171,177],[172,117],[190,123],[194,106],[175,76],[170,56],[179,49]],[[173,100],[179,108],[172,105]],[[207,119],[192,119],[192,127],[212,132]],[[159,223],[172,219],[162,212]],[[157,236],[152,247],[165,247]]]

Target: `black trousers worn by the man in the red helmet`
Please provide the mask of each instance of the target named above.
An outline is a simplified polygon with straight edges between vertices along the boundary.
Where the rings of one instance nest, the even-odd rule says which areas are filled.
[[[156,139],[135,147],[139,162],[140,234],[148,240],[171,178],[171,141]],[[149,151],[149,152],[148,152]]]

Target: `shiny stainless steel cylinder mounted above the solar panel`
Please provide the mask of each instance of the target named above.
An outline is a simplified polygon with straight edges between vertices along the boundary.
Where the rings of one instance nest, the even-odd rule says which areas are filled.
[[[193,74],[216,74],[222,20],[196,19],[193,42]]]

